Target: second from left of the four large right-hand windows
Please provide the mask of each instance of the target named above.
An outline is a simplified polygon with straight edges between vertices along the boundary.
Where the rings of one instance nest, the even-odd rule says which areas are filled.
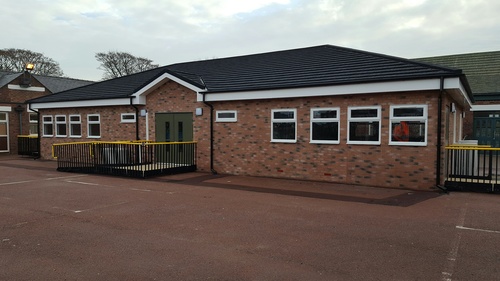
[[[339,108],[311,109],[311,143],[339,143]]]

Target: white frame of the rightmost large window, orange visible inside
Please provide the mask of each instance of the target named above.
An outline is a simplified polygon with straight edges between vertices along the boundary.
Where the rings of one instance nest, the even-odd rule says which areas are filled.
[[[394,109],[398,108],[422,108],[423,116],[394,116]],[[402,145],[402,146],[427,146],[428,135],[428,106],[426,104],[405,104],[405,105],[391,105],[389,117],[389,145]],[[424,122],[424,141],[393,141],[392,140],[392,124],[400,123],[401,121],[420,121]]]

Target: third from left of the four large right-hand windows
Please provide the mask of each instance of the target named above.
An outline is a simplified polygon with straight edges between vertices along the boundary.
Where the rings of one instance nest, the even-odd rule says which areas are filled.
[[[380,144],[380,111],[380,106],[349,108],[347,143]]]

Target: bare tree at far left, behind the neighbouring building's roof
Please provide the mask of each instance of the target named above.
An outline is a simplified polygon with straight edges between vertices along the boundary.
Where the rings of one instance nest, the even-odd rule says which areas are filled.
[[[64,76],[59,63],[41,53],[13,48],[0,50],[0,70],[23,72],[28,63],[35,65],[33,74]]]

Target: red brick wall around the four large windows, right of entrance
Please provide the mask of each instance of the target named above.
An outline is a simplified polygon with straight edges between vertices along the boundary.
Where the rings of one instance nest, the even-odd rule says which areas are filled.
[[[427,146],[390,146],[390,105],[428,105]],[[350,95],[214,103],[237,110],[238,122],[215,123],[219,173],[301,178],[383,187],[428,189],[435,184],[437,92]],[[348,106],[382,106],[380,145],[348,145]],[[340,144],[311,144],[310,109],[340,107]],[[296,108],[297,143],[271,143],[271,110]]]

